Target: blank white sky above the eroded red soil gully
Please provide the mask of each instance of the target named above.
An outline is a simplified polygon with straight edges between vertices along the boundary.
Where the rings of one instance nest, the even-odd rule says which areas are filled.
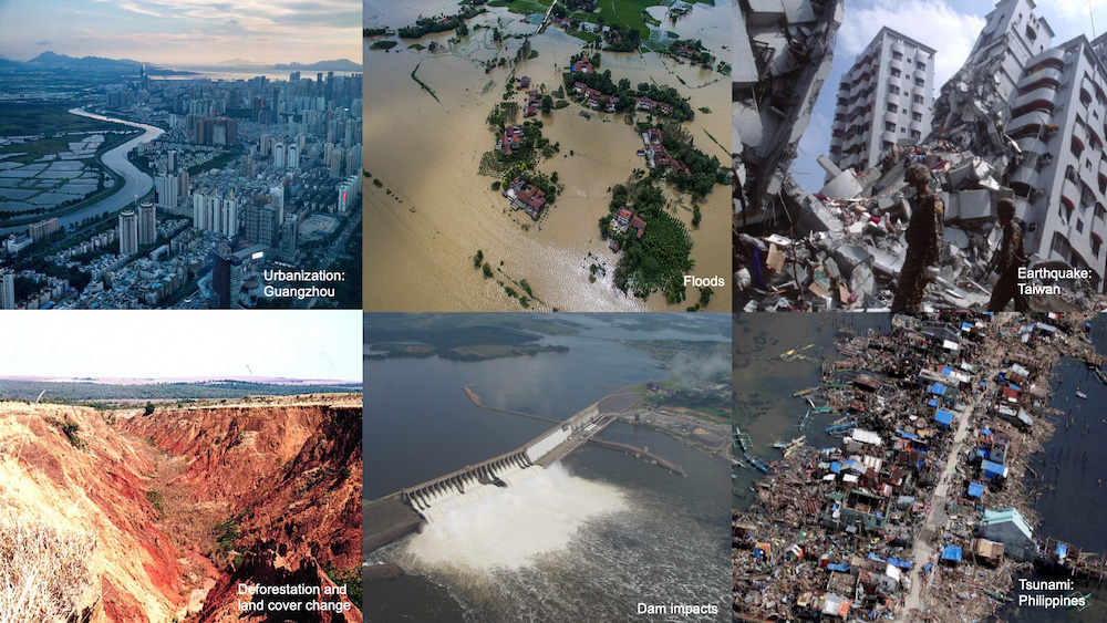
[[[360,382],[358,310],[0,312],[0,375]]]

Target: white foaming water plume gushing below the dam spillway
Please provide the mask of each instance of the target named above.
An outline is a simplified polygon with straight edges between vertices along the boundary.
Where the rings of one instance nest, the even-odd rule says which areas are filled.
[[[619,488],[555,464],[515,487],[451,508],[406,542],[403,558],[416,570],[518,570],[566,549],[589,521],[627,508]]]

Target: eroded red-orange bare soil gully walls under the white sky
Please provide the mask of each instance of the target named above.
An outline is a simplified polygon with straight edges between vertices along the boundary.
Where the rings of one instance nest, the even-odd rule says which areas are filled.
[[[117,423],[89,408],[0,404],[0,519],[95,541],[79,604],[93,622],[360,622],[349,599],[360,602],[360,581],[317,600],[339,614],[241,612],[237,592],[360,579],[361,490],[360,395]],[[0,573],[14,562],[0,557]]]

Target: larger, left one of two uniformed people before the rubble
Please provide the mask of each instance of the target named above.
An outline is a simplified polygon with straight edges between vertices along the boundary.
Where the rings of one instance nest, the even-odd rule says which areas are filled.
[[[930,168],[927,165],[909,166],[903,179],[914,187],[915,193],[911,199],[911,222],[907,226],[907,257],[892,311],[917,312],[922,307],[927,282],[938,276],[945,203],[930,189]]]

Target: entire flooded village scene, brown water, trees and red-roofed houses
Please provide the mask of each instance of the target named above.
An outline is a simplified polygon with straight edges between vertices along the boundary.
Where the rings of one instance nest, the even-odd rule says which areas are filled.
[[[459,6],[364,4],[371,310],[683,311],[697,297],[700,309],[727,309],[728,279],[714,295],[669,297],[682,281],[615,273],[628,252],[649,270],[676,266],[646,261],[670,240],[683,272],[731,272],[730,167],[715,178],[696,168],[730,152],[730,7],[469,4],[465,29],[417,38],[400,31]],[[674,128],[659,135],[672,157],[643,142],[650,127]],[[673,148],[682,137],[697,156]],[[631,187],[645,180],[658,193]],[[620,187],[625,226],[611,208]]]

